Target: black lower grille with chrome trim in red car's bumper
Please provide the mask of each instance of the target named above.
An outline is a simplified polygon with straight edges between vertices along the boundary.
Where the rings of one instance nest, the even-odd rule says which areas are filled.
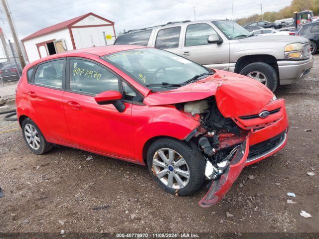
[[[247,162],[255,160],[263,155],[266,155],[272,152],[285,139],[286,139],[286,131],[276,135],[275,137],[272,137],[263,142],[250,146]]]

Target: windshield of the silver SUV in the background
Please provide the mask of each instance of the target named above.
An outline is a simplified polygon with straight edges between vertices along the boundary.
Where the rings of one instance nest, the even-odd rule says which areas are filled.
[[[213,21],[228,39],[239,39],[251,36],[251,33],[233,21]]]

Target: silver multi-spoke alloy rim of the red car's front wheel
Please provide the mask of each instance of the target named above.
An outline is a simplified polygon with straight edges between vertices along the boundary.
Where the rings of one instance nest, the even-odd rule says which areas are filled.
[[[155,175],[167,187],[182,189],[189,182],[190,172],[186,160],[175,150],[161,148],[153,156]]]

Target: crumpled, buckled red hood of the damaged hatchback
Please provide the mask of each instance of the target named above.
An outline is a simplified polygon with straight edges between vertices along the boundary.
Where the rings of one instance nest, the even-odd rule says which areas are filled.
[[[150,93],[144,104],[171,105],[215,96],[217,107],[226,118],[246,116],[259,111],[273,98],[262,83],[235,73],[216,70],[216,74],[178,89]]]

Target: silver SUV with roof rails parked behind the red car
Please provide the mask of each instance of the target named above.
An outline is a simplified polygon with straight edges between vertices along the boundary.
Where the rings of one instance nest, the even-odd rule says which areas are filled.
[[[299,36],[257,36],[228,20],[168,22],[120,35],[114,44],[161,48],[208,68],[249,76],[275,91],[310,73],[310,42]]]

